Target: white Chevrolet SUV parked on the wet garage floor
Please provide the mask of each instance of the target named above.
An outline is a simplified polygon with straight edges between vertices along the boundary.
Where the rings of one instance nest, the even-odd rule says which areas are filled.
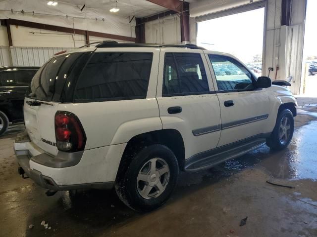
[[[32,79],[19,173],[48,195],[115,190],[138,211],[171,195],[179,170],[210,168],[292,139],[296,100],[232,55],[193,44],[102,42],[62,52]]]

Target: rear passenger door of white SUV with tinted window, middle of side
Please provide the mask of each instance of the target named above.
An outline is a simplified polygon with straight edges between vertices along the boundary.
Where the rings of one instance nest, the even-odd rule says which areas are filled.
[[[161,48],[157,100],[163,128],[182,135],[185,158],[217,146],[219,101],[202,50]]]

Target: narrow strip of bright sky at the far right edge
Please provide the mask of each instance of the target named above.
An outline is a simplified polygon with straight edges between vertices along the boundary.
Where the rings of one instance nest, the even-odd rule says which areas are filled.
[[[317,0],[308,0],[305,22],[304,59],[317,56]]]

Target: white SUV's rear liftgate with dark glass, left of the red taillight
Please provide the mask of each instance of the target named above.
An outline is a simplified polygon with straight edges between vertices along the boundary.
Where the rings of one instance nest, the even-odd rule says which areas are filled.
[[[54,116],[60,102],[72,102],[74,82],[92,52],[74,52],[52,58],[36,73],[24,101],[24,121],[33,143],[57,154]]]

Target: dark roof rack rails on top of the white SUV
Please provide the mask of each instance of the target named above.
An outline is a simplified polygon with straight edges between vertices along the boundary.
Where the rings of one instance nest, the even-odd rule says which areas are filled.
[[[153,47],[160,47],[160,48],[178,47],[178,48],[191,48],[191,49],[203,49],[203,50],[205,49],[204,47],[200,47],[192,43],[186,43],[186,44],[118,43],[117,41],[112,41],[112,40],[105,40],[96,45],[96,48],[126,48],[126,47],[152,47],[152,48]]]

